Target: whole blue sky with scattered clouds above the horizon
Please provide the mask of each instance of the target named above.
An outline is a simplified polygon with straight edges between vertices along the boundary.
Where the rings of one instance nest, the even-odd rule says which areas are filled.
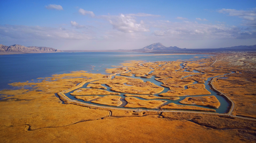
[[[0,44],[59,50],[256,45],[256,0],[1,0]]]

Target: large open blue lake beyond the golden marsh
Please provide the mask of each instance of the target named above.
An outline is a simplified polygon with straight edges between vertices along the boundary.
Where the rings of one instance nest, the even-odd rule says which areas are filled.
[[[57,52],[0,55],[0,90],[12,89],[13,87],[8,83],[25,82],[70,71],[83,70],[106,74],[104,68],[113,68],[111,65],[120,65],[128,60],[176,61],[190,59],[194,56],[209,56],[205,54],[147,56],[151,54],[142,52]]]

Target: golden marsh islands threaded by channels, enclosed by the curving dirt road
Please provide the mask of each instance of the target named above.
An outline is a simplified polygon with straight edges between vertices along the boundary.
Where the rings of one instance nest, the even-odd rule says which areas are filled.
[[[129,61],[130,62],[130,61]],[[98,81],[93,81],[90,83],[85,83],[81,88],[76,89],[75,91],[84,91],[85,88],[87,89],[87,92],[82,93],[79,92],[79,95],[97,95],[99,97],[102,97],[102,99],[104,99],[104,95],[113,95],[113,94],[119,94],[120,98],[122,99],[122,104],[120,104],[119,106],[114,105],[115,107],[118,108],[130,108],[130,109],[151,109],[151,110],[156,110],[156,109],[160,109],[161,106],[167,105],[169,103],[175,103],[178,105],[184,105],[184,101],[186,98],[189,97],[193,97],[193,98],[200,98],[200,97],[208,97],[207,95],[211,95],[214,97],[214,99],[216,100],[216,102],[219,103],[220,108],[217,108],[216,110],[211,110],[213,112],[217,112],[217,113],[226,113],[228,111],[228,108],[230,107],[228,101],[226,101],[222,96],[217,95],[217,92],[212,91],[209,84],[209,81],[211,78],[213,77],[209,77],[209,78],[202,78],[202,81],[206,81],[204,84],[203,83],[198,83],[198,81],[196,80],[184,80],[184,78],[189,78],[190,76],[193,76],[195,74],[207,74],[207,73],[202,73],[196,70],[192,70],[191,72],[187,71],[184,65],[184,62],[150,62],[150,66],[149,63],[147,62],[141,62],[141,61],[131,61],[133,63],[132,67],[122,67],[121,69],[118,68],[116,69],[116,71],[114,71],[113,69],[111,69],[112,73],[119,73],[120,70],[122,72],[131,74],[131,76],[129,76],[129,78],[127,77],[127,75],[124,75],[124,73],[119,73],[119,74],[115,74],[115,76],[111,76],[111,79],[107,79],[107,80],[98,80]],[[195,64],[196,62],[194,62]],[[198,62],[198,64],[201,64],[201,60],[200,62]],[[204,62],[205,64],[209,64],[207,62]],[[125,63],[127,64],[127,63]],[[164,68],[161,67],[164,65]],[[168,65],[170,65],[168,67]],[[175,65],[175,71],[179,70],[179,71],[184,71],[187,74],[187,76],[183,76],[181,78],[172,78],[173,76],[176,77],[175,75],[175,71],[173,72],[172,70],[169,70],[170,72],[172,72],[171,76],[166,76],[166,74],[154,74],[154,70],[158,71],[158,70],[165,70],[167,71],[167,69],[172,69]],[[146,69],[149,69],[148,71],[145,71]],[[108,70],[110,71],[110,70]],[[169,71],[167,71],[169,73]],[[193,72],[194,71],[194,72]],[[221,75],[225,75],[225,74],[229,74],[230,71],[223,71],[223,73]],[[234,72],[231,72],[234,73]],[[143,78],[143,77],[138,77],[136,76],[136,74],[140,74],[143,76],[150,76],[150,78]],[[146,75],[147,74],[147,75]],[[178,74],[182,74],[184,75],[182,72],[179,72]],[[156,78],[156,76],[164,76],[165,78]],[[211,75],[211,74],[210,74]],[[209,76],[209,74],[208,74]],[[213,75],[214,77],[218,77]],[[178,84],[177,84],[178,82]],[[163,83],[165,85],[163,85]],[[105,87],[105,90],[98,90],[101,92],[108,92],[108,93],[104,93],[104,94],[100,94],[100,92],[98,93],[91,93],[91,87],[93,84],[95,85],[100,85],[101,87]],[[90,85],[90,86],[88,86]],[[169,85],[169,86],[168,86]],[[180,86],[183,85],[183,86]],[[172,86],[170,88],[170,86]],[[173,87],[177,87],[177,88],[173,88]],[[119,90],[117,90],[119,89]],[[192,90],[191,90],[192,89]],[[150,92],[150,91],[154,91],[154,92]],[[159,90],[159,91],[158,91]],[[65,96],[67,96],[69,99],[71,100],[75,100],[75,98],[73,95],[78,95],[78,94],[74,94],[75,91],[70,91],[68,93],[65,94]],[[167,95],[166,97],[162,97],[164,93],[166,92],[178,92],[178,93],[182,93],[182,94],[176,94],[176,95]],[[143,94],[143,95],[140,95]],[[147,95],[145,95],[147,94]],[[151,96],[150,96],[151,95]],[[154,95],[154,96],[152,96]],[[131,98],[134,99],[132,102],[136,103],[137,106],[130,106],[131,105],[131,101],[128,101],[129,97],[136,97],[135,98]],[[197,96],[197,97],[194,97]],[[200,97],[199,97],[200,96]],[[217,97],[217,98],[216,98]],[[83,99],[78,100],[80,102],[83,103],[90,103],[93,105],[99,105],[100,103],[97,101],[100,99],[92,99],[89,101],[84,101]],[[148,101],[150,100],[150,101]],[[96,102],[95,102],[96,101]],[[161,104],[158,105],[159,103],[156,103],[157,101],[160,101]],[[111,106],[111,102],[113,102],[112,100],[109,100],[109,104],[103,104],[103,105],[109,105],[108,107],[113,107]],[[152,108],[151,106],[147,107],[147,105],[145,102],[147,102],[147,105],[150,104],[156,104],[158,106],[154,106],[156,108]],[[203,101],[201,101],[202,104],[204,103]],[[98,103],[98,104],[97,104]],[[187,104],[187,103],[186,103]],[[195,106],[195,107],[201,107],[204,106],[202,104],[193,104],[191,106]],[[141,105],[141,106],[139,106]],[[190,107],[191,107],[190,106]],[[184,105],[184,107],[186,107],[186,105]],[[215,108],[215,106],[205,106],[204,108],[207,109],[213,109]],[[186,110],[186,108],[175,108],[176,110]],[[175,110],[174,109],[174,110]],[[216,109],[216,108],[215,108]],[[189,108],[187,110],[197,110],[197,108]],[[197,110],[199,111],[199,110]],[[200,110],[202,111],[202,110]]]

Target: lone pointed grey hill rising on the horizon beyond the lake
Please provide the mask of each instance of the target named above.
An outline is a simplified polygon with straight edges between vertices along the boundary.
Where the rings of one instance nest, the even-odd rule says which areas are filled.
[[[136,49],[136,51],[160,51],[160,50],[179,50],[179,47],[165,47],[162,43],[153,43],[142,49]]]

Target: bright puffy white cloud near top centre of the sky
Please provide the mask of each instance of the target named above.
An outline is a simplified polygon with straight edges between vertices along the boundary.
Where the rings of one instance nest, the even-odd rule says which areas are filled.
[[[119,16],[107,15],[101,17],[107,19],[113,26],[113,29],[117,29],[118,31],[122,31],[124,33],[150,32],[142,20],[138,24],[131,16],[121,14]]]

